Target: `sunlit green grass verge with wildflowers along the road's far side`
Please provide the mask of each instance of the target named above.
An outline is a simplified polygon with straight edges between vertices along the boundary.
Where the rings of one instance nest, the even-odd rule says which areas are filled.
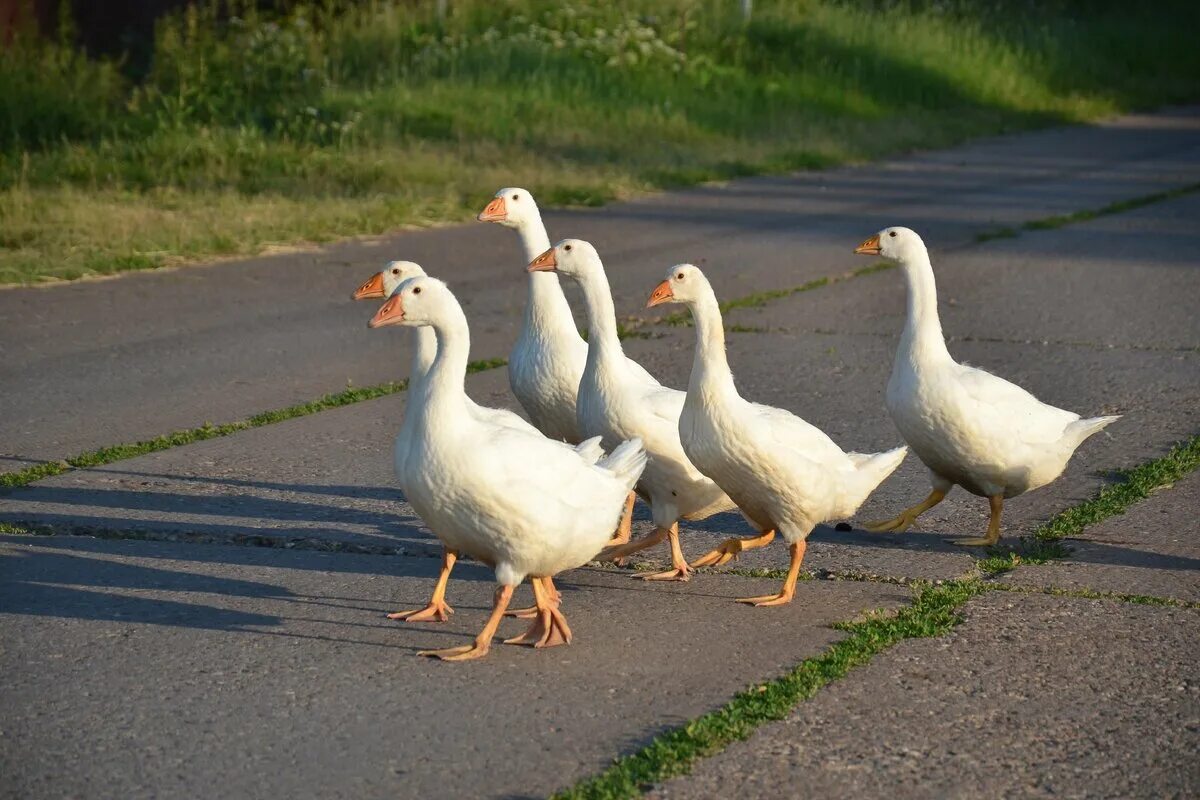
[[[0,283],[814,169],[1196,97],[1194,4],[234,0],[0,50]]]

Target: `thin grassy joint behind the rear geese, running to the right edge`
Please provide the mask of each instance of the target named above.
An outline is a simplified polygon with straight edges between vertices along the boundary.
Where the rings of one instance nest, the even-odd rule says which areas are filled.
[[[1154,203],[1162,203],[1164,200],[1174,200],[1175,198],[1190,194],[1193,192],[1200,192],[1200,184],[1188,184],[1186,186],[1178,186],[1172,190],[1166,190],[1163,192],[1153,192],[1151,194],[1140,194],[1126,200],[1116,200],[1109,203],[1108,205],[1102,205],[1098,209],[1082,209],[1080,211],[1072,211],[1070,213],[1054,215],[1049,217],[1039,217],[1037,219],[1027,219],[1014,227],[1006,228],[991,228],[977,233],[973,239],[962,241],[958,245],[950,245],[948,247],[940,248],[940,252],[955,252],[960,249],[968,249],[977,247],[982,243],[996,240],[996,239],[1015,239],[1026,231],[1036,230],[1054,230],[1056,228],[1064,228],[1067,225],[1078,224],[1081,222],[1091,222],[1098,217],[1106,217],[1114,213],[1122,213],[1124,211],[1133,211],[1135,209],[1141,209],[1147,205],[1153,205]],[[844,283],[846,281],[852,281],[854,278],[864,277],[868,275],[875,275],[877,272],[886,272],[894,269],[895,264],[892,261],[876,261],[869,266],[858,267],[857,270],[850,270],[848,272],[841,272],[838,275],[827,275],[824,277],[814,278],[797,287],[786,287],[782,289],[767,289],[763,291],[755,291],[752,294],[743,295],[740,297],[733,297],[720,303],[721,313],[727,313],[736,308],[762,308],[775,300],[781,300],[784,297],[791,297],[796,294],[802,294],[805,291],[812,291],[814,289],[821,289],[823,287],[833,285],[835,283]],[[691,312],[688,309],[678,311],[666,317],[660,317],[655,320],[658,325],[672,325],[672,326],[690,326],[691,325]],[[760,332],[751,331],[749,327],[743,329],[739,332]]]

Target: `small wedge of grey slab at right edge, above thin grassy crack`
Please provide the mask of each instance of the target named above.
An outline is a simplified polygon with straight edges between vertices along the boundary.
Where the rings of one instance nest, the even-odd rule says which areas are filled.
[[[1200,473],[1067,540],[1070,555],[1002,583],[1200,602]]]

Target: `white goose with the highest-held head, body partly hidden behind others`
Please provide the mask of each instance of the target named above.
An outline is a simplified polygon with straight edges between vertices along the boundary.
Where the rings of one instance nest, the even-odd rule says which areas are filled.
[[[523,251],[523,265],[550,247],[546,224],[533,194],[518,187],[502,188],[479,212],[480,222],[496,222],[516,231]],[[580,441],[576,398],[588,345],[580,336],[571,307],[558,277],[530,272],[521,332],[509,355],[509,385],[529,419],[551,439]],[[641,365],[629,368],[647,378]],[[625,513],[613,535],[613,543],[629,541],[632,530],[634,494],[625,500]]]

